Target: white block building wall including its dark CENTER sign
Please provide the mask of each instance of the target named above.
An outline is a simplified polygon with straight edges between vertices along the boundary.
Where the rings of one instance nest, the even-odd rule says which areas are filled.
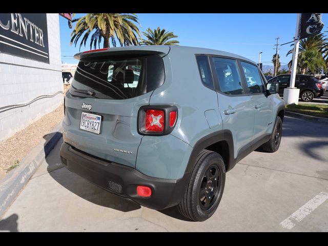
[[[0,14],[0,142],[63,104],[59,15]]]

